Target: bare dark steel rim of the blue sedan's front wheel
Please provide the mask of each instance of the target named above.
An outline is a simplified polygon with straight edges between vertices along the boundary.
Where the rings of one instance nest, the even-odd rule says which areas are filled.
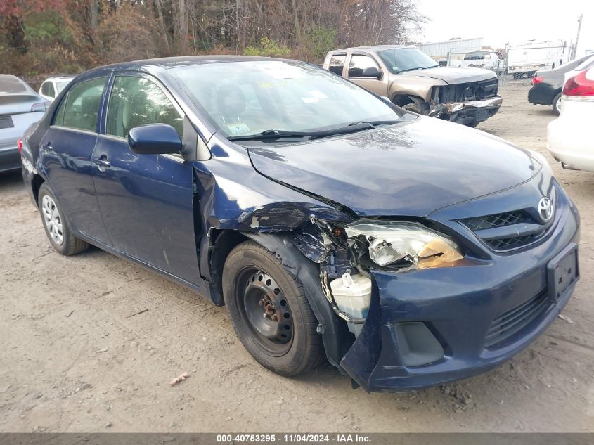
[[[266,272],[247,268],[237,276],[238,309],[248,321],[254,340],[273,356],[285,354],[293,338],[292,314],[287,299]]]

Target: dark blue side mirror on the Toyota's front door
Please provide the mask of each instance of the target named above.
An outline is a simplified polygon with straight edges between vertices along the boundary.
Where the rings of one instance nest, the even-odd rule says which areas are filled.
[[[138,155],[179,153],[182,148],[179,134],[168,124],[134,127],[128,134],[128,145]]]

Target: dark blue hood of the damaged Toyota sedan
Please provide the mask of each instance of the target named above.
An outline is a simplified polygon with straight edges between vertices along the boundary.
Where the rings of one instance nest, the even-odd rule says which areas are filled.
[[[248,153],[260,174],[361,216],[427,216],[527,181],[542,167],[500,138],[430,117]]]

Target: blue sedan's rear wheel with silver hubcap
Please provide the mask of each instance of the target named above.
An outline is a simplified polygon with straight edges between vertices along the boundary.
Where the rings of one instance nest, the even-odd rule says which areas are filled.
[[[63,209],[46,183],[41,184],[37,198],[41,221],[51,246],[59,254],[74,255],[89,248],[89,244],[72,233]]]

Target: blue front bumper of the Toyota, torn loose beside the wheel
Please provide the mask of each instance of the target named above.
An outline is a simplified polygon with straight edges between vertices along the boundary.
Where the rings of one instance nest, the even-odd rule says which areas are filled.
[[[575,282],[557,295],[548,265],[578,244],[579,219],[567,206],[548,239],[524,252],[449,268],[372,270],[366,323],[342,370],[368,392],[397,392],[498,366],[567,304]]]

